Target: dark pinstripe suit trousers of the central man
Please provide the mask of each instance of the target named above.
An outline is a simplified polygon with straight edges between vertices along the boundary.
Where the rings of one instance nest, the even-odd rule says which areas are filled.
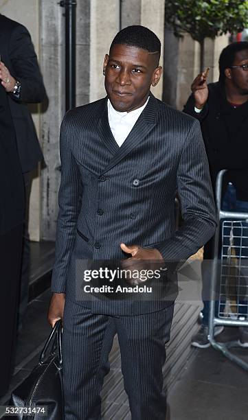
[[[100,420],[100,390],[117,333],[133,420],[165,420],[162,367],[174,305],[150,314],[106,316],[66,299],[63,327],[65,420]]]

